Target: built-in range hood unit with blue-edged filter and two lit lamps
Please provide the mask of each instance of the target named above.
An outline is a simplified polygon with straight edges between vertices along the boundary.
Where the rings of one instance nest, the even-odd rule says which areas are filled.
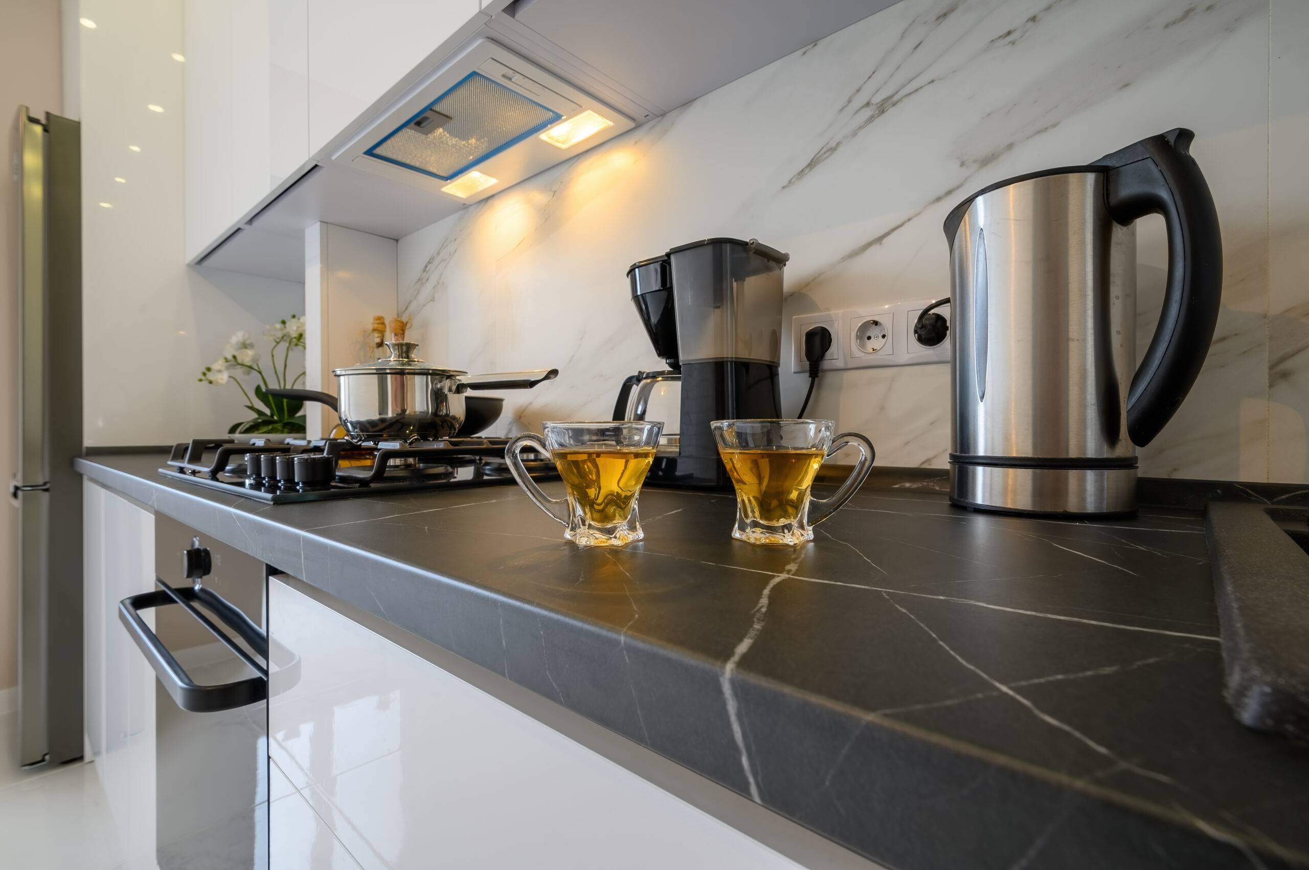
[[[613,106],[479,39],[412,85],[332,162],[473,203],[632,127]]]

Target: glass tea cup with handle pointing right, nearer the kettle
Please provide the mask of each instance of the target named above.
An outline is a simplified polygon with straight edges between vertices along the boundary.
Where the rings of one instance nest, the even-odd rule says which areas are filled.
[[[813,540],[813,527],[850,501],[873,467],[873,444],[856,432],[833,438],[831,420],[715,420],[719,455],[737,492],[732,536],[750,544],[795,546]],[[810,495],[818,467],[842,447],[859,462],[829,498]]]

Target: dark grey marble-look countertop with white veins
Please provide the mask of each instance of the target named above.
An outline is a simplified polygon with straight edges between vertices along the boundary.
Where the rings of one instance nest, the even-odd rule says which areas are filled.
[[[647,489],[602,551],[514,487],[264,505],[162,462],[77,467],[888,867],[1309,863],[1309,747],[1232,718],[1198,513],[865,489],[791,551]]]

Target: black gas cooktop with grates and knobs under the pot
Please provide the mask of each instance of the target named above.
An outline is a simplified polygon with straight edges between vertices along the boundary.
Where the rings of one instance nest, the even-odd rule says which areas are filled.
[[[195,438],[173,447],[165,478],[271,504],[513,483],[508,438],[377,441],[285,436]],[[555,475],[547,457],[524,451],[533,478]]]

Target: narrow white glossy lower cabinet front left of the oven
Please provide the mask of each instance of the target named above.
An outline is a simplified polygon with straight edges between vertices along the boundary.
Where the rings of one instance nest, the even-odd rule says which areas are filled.
[[[153,858],[154,671],[118,602],[154,586],[154,517],[89,480],[82,491],[88,743],[124,849],[114,858]]]

